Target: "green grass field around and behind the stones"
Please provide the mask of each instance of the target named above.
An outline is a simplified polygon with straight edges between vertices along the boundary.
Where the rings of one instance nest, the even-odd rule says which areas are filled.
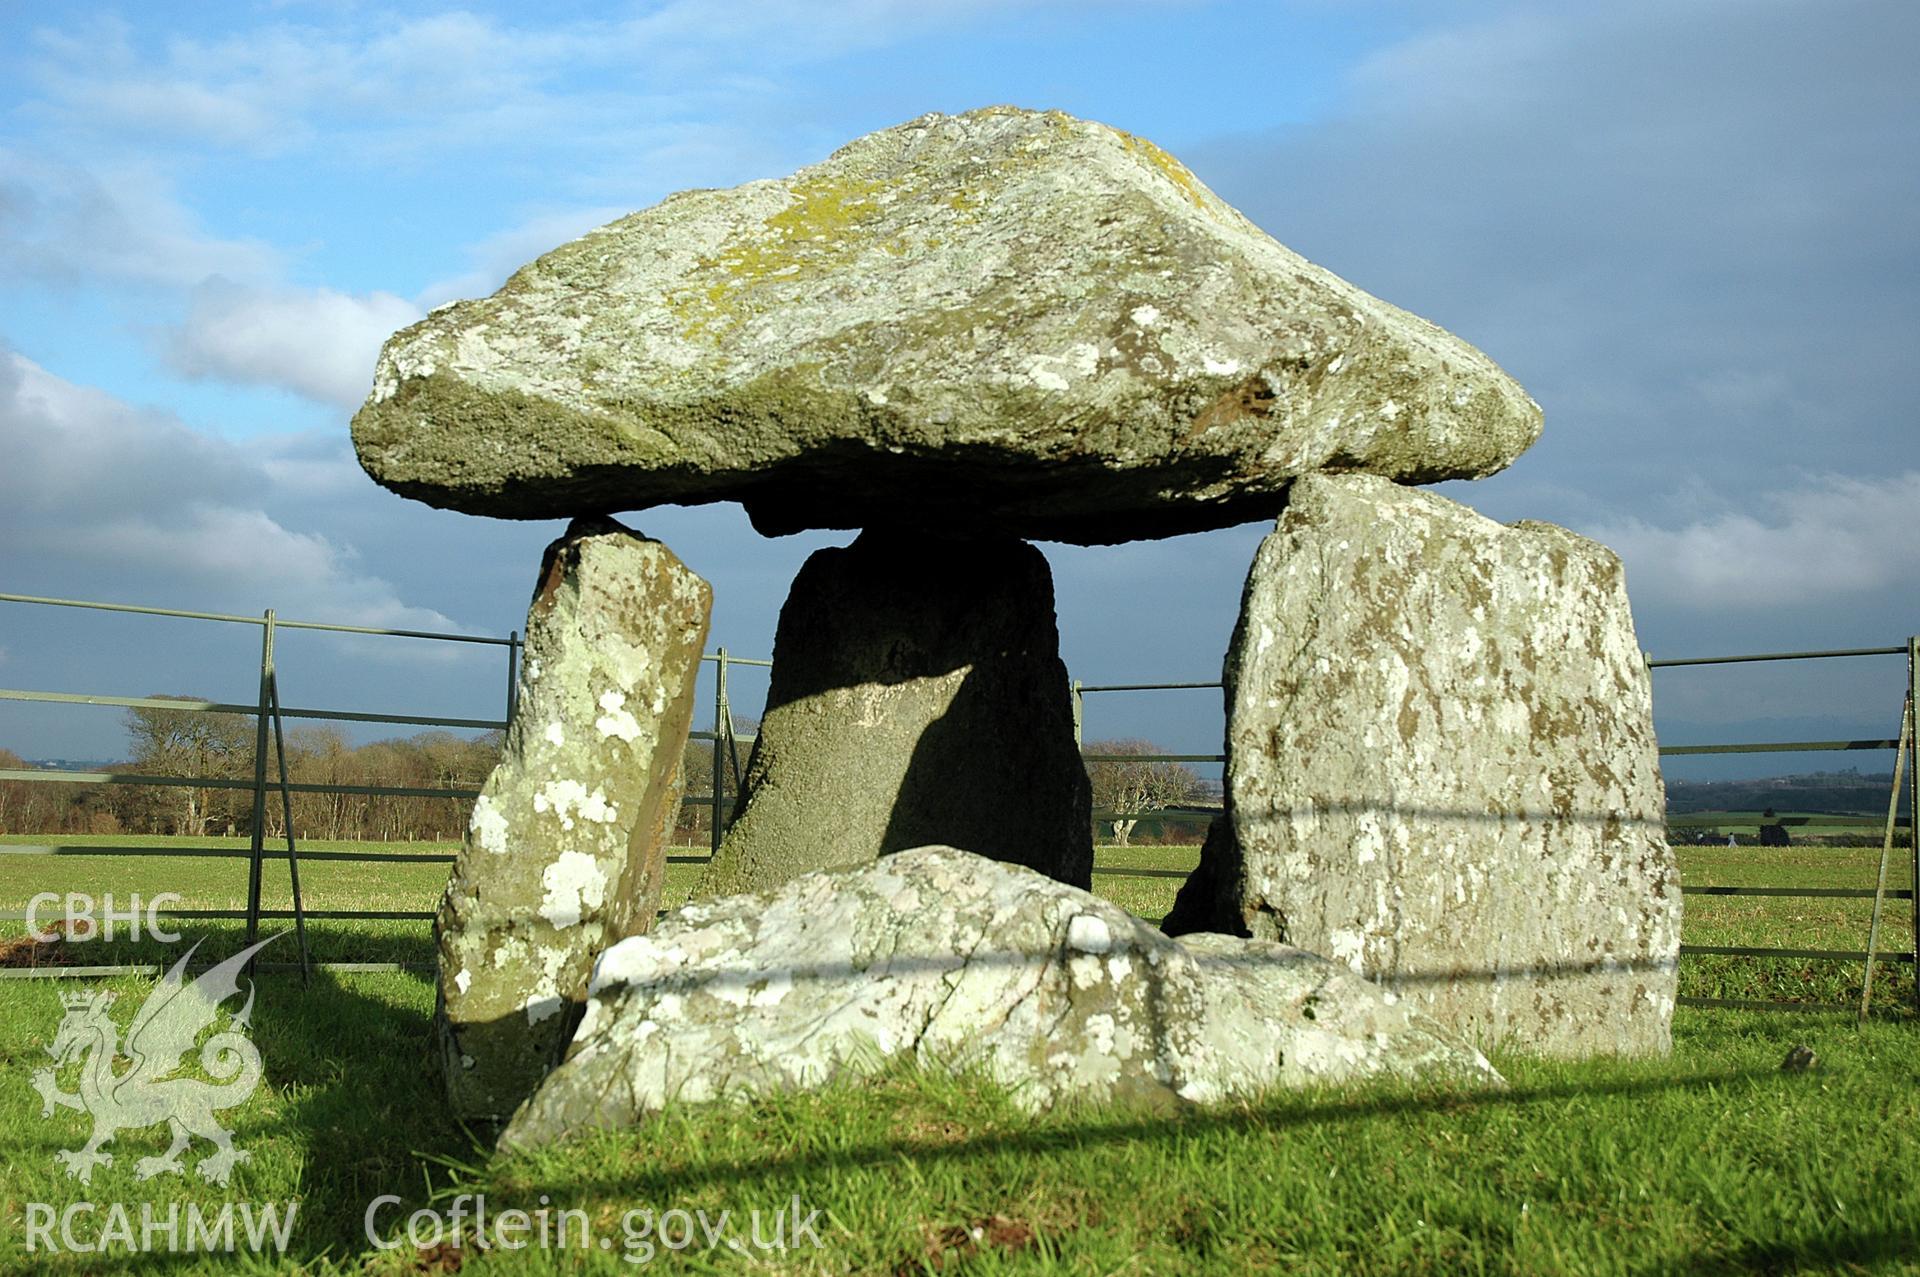
[[[17,839],[44,841],[44,839]],[[63,839],[75,841],[75,839]],[[129,843],[136,839],[104,839]],[[321,849],[324,845],[315,845]],[[424,851],[399,845],[394,851]],[[1688,881],[1872,885],[1876,851],[1680,849]],[[1102,849],[1102,868],[1167,878],[1096,878],[1096,889],[1158,918],[1194,849]],[[1905,858],[1895,858],[1905,885]],[[697,866],[674,866],[685,891]],[[445,866],[309,862],[309,908],[432,908]],[[240,860],[6,856],[0,906],[38,889],[179,891],[188,906],[244,901]],[[284,903],[284,866],[269,903]],[[1910,906],[1889,945],[1910,943]],[[19,929],[19,924],[8,924]],[[1864,945],[1864,901],[1690,897],[1690,943]],[[317,958],[426,960],[424,924],[313,924]],[[207,947],[236,928],[194,928]],[[276,947],[290,941],[276,941]],[[100,945],[102,958],[169,958]],[[290,951],[280,956],[292,956]],[[1686,958],[1686,993],[1857,997],[1857,964]],[[144,977],[88,981],[144,999]],[[1920,1271],[1920,1022],[1910,974],[1882,968],[1884,1016],[1682,1008],[1667,1060],[1553,1064],[1496,1054],[1501,1093],[1371,1087],[1288,1095],[1254,1106],[1144,1118],[1125,1110],[1021,1116],[995,1087],[895,1072],[877,1083],[751,1106],[680,1110],[645,1129],[538,1156],[490,1158],[440,1116],[424,1048],[424,974],[263,976],[252,1037],[267,1083],[227,1110],[252,1154],[230,1191],[198,1179],[134,1179],[159,1129],[127,1131],[88,1189],[56,1150],[84,1121],[40,1118],[29,1085],[61,1018],[54,981],[0,981],[0,1269],[4,1271],[1062,1271],[1062,1273],[1734,1273]],[[1789,1047],[1820,1062],[1782,1072]],[[196,1150],[198,1156],[198,1150]],[[376,1250],[407,1212],[442,1214],[459,1194],[509,1208],[574,1210],[589,1250]],[[286,1256],[192,1258],[27,1254],[29,1202],[198,1204],[298,1200]],[[816,1250],[687,1250],[641,1235],[630,1212],[820,1212]],[[551,1219],[551,1216],[549,1216]],[[668,1241],[680,1241],[666,1216]],[[791,1221],[789,1221],[791,1227]],[[98,1231],[98,1223],[94,1225]],[[578,1241],[578,1223],[574,1241]],[[84,1235],[84,1225],[81,1227]],[[83,1237],[84,1239],[84,1237]],[[770,1241],[770,1225],[762,1233]],[[599,1241],[609,1246],[601,1248]],[[651,1246],[651,1252],[649,1252]],[[465,1260],[465,1264],[461,1264]]]

